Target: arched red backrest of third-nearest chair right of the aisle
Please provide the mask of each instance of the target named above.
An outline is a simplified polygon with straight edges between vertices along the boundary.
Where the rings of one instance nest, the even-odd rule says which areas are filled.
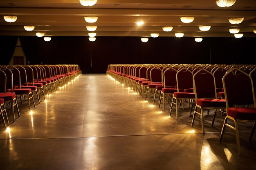
[[[188,68],[180,69],[176,74],[177,89],[193,88],[193,73]]]

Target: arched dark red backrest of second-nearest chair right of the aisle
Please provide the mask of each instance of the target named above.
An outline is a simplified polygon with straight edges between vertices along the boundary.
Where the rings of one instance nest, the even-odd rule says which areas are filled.
[[[217,98],[215,79],[213,74],[201,69],[193,75],[195,98]]]

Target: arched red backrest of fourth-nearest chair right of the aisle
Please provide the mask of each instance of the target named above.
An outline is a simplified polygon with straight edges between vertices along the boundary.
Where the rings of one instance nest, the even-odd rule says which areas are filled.
[[[170,67],[164,71],[164,88],[166,88],[165,86],[177,85],[176,74],[177,70],[175,70],[173,67]]]

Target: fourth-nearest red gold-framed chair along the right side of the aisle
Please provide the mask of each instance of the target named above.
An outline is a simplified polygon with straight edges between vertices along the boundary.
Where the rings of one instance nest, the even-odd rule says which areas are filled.
[[[167,100],[169,102],[169,99],[171,98],[173,93],[177,92],[177,88],[175,88],[175,86],[177,86],[176,73],[177,73],[177,70],[173,67],[168,68],[164,72],[164,75],[163,75],[164,88],[162,88],[162,86],[160,86],[161,93],[160,93],[160,96],[159,96],[159,103],[158,103],[158,107],[160,107],[161,101],[163,99],[163,110],[164,110],[164,107],[165,107],[165,98],[166,98],[166,96],[167,96]],[[156,86],[156,88],[159,88],[159,87]]]

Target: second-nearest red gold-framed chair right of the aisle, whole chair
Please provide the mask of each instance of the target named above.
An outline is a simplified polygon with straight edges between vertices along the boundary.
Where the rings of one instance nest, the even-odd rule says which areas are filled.
[[[202,132],[204,135],[203,109],[215,109],[213,121],[211,124],[211,126],[213,126],[217,109],[219,112],[223,112],[221,109],[226,108],[226,101],[225,99],[217,98],[214,76],[205,69],[201,69],[200,71],[196,72],[195,75],[193,75],[193,87],[195,92],[196,105],[191,127],[193,127],[195,115],[200,115],[202,121]]]

